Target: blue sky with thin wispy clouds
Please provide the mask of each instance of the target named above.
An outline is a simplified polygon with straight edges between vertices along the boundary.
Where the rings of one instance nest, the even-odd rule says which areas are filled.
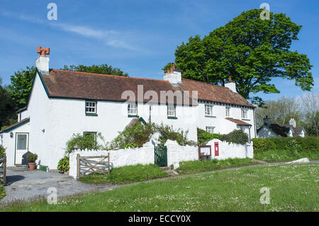
[[[47,20],[47,4],[57,4],[57,21]],[[36,47],[50,47],[50,68],[65,64],[111,64],[131,77],[162,79],[162,67],[174,61],[177,45],[190,36],[208,35],[242,11],[267,2],[303,28],[292,50],[313,64],[319,92],[319,1],[4,1],[0,0],[0,77],[3,84],[18,69],[35,64]],[[294,81],[274,80],[281,94],[306,94]]]

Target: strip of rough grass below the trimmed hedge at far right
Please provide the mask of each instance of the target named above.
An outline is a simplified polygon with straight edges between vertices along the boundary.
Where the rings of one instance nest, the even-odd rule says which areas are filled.
[[[260,159],[265,162],[286,162],[302,158],[308,158],[310,160],[319,159],[319,152],[292,152],[291,150],[269,150],[266,152],[254,153],[254,159]]]

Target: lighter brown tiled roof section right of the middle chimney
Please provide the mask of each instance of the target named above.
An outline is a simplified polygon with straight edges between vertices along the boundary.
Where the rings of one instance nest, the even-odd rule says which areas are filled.
[[[225,86],[208,84],[202,81],[190,79],[181,79],[182,84],[179,84],[184,91],[198,91],[198,100],[216,101],[220,103],[229,103],[238,106],[254,106],[248,102],[240,94],[234,93]]]

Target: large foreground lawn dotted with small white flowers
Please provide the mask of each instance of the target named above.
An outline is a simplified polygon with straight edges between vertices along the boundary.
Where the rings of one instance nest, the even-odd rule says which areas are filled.
[[[142,182],[6,211],[318,211],[319,164],[282,164]],[[259,202],[270,188],[270,204]]]

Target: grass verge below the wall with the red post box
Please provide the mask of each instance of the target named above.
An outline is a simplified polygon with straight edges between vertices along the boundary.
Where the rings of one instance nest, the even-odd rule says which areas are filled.
[[[224,159],[224,160],[203,160],[180,162],[177,171],[179,174],[193,174],[203,171],[213,171],[214,169],[225,169],[236,166],[247,166],[259,164],[254,159]]]

